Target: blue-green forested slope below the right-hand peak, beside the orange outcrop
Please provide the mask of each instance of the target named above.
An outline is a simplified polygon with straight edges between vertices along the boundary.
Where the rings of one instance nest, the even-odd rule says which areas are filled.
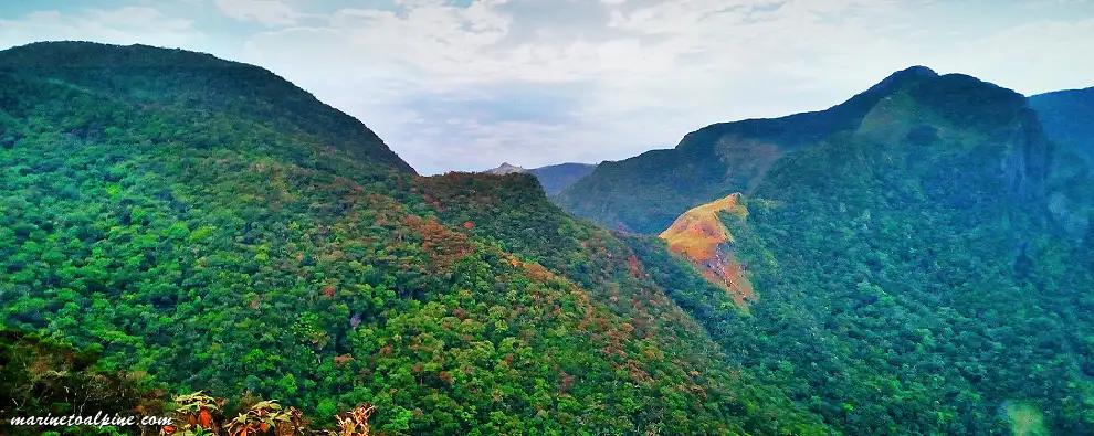
[[[1091,252],[1049,220],[1051,150],[1018,94],[909,84],[776,162],[747,221],[723,214],[750,316],[674,295],[735,363],[846,434],[1007,434],[1016,397],[1054,434],[1090,434]]]

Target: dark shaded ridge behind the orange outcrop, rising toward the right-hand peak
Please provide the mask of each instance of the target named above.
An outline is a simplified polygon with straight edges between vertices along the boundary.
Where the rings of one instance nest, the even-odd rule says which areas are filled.
[[[827,110],[707,126],[684,136],[674,149],[599,164],[558,201],[610,228],[655,234],[693,206],[750,193],[786,153],[856,128],[883,98],[936,77],[915,66]]]

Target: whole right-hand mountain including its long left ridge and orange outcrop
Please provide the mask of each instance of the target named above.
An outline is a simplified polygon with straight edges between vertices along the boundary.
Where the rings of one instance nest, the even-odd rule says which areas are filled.
[[[720,290],[674,296],[840,433],[1090,434],[1094,244],[1058,219],[1071,176],[1035,108],[912,68],[602,163],[558,200],[644,233],[622,237],[666,288]],[[746,316],[726,265],[751,285]]]

